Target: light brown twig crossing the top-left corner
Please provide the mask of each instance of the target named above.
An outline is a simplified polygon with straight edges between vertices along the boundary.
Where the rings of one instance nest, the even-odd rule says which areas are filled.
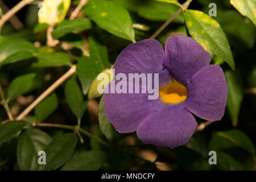
[[[16,14],[20,9],[22,9],[24,6],[29,5],[35,0],[22,0],[20,1],[16,6],[14,6],[10,11],[8,11],[5,15],[2,16],[0,19],[0,34],[3,25],[13,16]]]

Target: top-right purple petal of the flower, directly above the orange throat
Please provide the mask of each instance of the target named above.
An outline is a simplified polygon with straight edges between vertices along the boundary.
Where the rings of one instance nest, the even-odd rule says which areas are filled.
[[[187,36],[170,36],[166,40],[165,51],[164,66],[175,80],[185,86],[199,69],[210,63],[210,54]]]

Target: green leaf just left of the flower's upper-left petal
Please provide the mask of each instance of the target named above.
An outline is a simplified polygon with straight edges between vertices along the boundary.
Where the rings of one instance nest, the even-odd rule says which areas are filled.
[[[108,49],[101,44],[94,36],[89,37],[89,51],[92,60],[98,61],[102,69],[109,67]]]

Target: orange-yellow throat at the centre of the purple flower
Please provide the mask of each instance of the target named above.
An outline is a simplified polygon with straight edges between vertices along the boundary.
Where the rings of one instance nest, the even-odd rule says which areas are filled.
[[[159,96],[164,103],[175,104],[186,100],[187,89],[172,78],[171,84],[164,85],[159,90]]]

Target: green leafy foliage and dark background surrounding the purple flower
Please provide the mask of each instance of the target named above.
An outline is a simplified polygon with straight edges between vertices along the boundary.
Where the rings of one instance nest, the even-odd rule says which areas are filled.
[[[0,16],[18,2],[2,0]],[[80,3],[71,1],[66,18],[55,24],[52,37],[60,43],[53,47],[47,46],[48,24],[38,22],[40,1],[16,13],[3,26],[0,36],[0,79],[6,101],[0,107],[0,169],[255,170],[254,0],[194,0],[190,10],[177,15],[156,38],[164,45],[171,35],[192,36],[211,53],[212,64],[221,65],[229,86],[221,121],[198,131],[184,146],[171,150],[145,145],[135,133],[118,134],[104,115],[103,100],[95,93],[97,75],[110,74],[109,68],[123,48],[135,40],[149,38],[184,2],[92,0],[70,20],[68,17]],[[210,18],[208,6],[212,2],[217,5],[217,16]],[[254,8],[249,4],[242,6],[243,2]],[[238,6],[233,6],[234,3]],[[64,9],[59,7],[60,12]],[[197,16],[192,10],[205,14]],[[221,28],[214,28],[215,20]],[[189,21],[196,26],[189,26]],[[200,25],[204,21],[208,35],[202,38]],[[6,103],[17,117],[75,64],[76,73],[23,121],[6,123]],[[197,118],[197,122],[204,121]],[[40,127],[42,123],[72,127]],[[77,130],[77,123],[81,131]],[[47,153],[46,166],[37,163],[40,150]],[[217,165],[208,163],[211,150],[217,152]]]

